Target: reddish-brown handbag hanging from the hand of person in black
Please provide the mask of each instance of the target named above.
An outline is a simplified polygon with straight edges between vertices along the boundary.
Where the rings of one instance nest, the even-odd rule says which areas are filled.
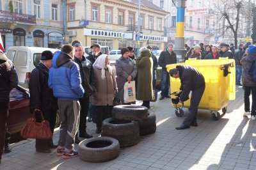
[[[26,125],[22,128],[20,135],[21,137],[27,139],[52,139],[52,132],[50,128],[50,123],[44,120],[44,116],[41,113],[42,122],[36,122],[35,111],[33,112],[33,118],[27,120]]]

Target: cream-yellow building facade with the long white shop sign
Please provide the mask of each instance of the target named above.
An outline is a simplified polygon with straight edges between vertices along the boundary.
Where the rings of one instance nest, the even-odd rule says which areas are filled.
[[[88,0],[67,1],[67,35],[65,42],[80,40],[84,46],[93,43],[120,47],[152,45],[164,49],[164,18],[168,15],[147,0],[141,0],[141,32],[138,33],[138,0]]]

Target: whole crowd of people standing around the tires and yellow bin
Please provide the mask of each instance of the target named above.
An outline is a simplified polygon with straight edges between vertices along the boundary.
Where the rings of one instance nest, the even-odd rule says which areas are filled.
[[[238,49],[234,45],[221,43],[216,45],[194,45],[186,47],[186,58],[218,59],[230,58],[236,60],[236,84],[241,85],[243,73],[244,88],[244,116],[251,115],[256,119],[256,82],[252,78],[252,68],[256,61],[256,41],[240,44]],[[60,110],[60,138],[58,144],[52,139],[36,139],[36,151],[51,153],[57,148],[57,155],[63,158],[76,157],[74,143],[79,143],[79,137],[90,138],[86,132],[86,117],[96,124],[95,132],[102,131],[102,121],[111,117],[113,99],[120,98],[122,104],[131,105],[135,102],[124,102],[125,82],[136,82],[136,99],[143,101],[143,106],[150,109],[150,101],[154,100],[156,88],[156,70],[162,68],[161,97],[170,98],[170,76],[179,78],[180,102],[189,99],[192,91],[189,114],[177,130],[197,127],[196,113],[204,94],[205,81],[202,73],[191,66],[177,66],[168,72],[166,65],[177,63],[177,56],[173,51],[173,43],[168,43],[166,50],[161,52],[159,60],[152,54],[152,47],[141,47],[138,57],[134,55],[133,47],[123,47],[122,56],[116,59],[116,75],[109,65],[109,56],[100,52],[100,45],[91,46],[92,52],[84,57],[82,43],[78,40],[72,45],[63,45],[60,51],[52,54],[51,51],[42,52],[40,63],[31,72],[29,81],[31,113],[36,112],[36,121],[41,122],[40,112],[45,120],[49,121],[52,133],[56,122],[56,111]],[[10,150],[4,144],[6,119],[8,116],[9,92],[18,83],[17,74],[10,61],[3,52],[0,53],[0,156],[3,150]],[[252,93],[252,108],[250,109],[250,94]],[[3,96],[3,97],[2,97]],[[156,98],[156,97],[155,97]],[[79,131],[79,133],[78,133]],[[2,137],[3,136],[3,137]],[[1,157],[0,157],[1,160]]]

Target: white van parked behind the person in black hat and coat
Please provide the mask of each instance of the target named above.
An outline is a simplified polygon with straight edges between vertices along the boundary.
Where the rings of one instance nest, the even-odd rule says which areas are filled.
[[[9,47],[6,56],[13,62],[16,68],[19,84],[28,88],[30,73],[40,62],[41,54],[44,50],[51,50],[54,53],[58,49],[49,49],[43,47]]]

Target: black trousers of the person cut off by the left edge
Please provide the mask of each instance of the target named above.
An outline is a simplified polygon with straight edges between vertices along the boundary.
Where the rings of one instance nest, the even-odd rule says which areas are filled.
[[[6,132],[6,121],[8,118],[8,102],[0,102],[0,160],[3,155],[4,143],[5,143],[5,132]]]

